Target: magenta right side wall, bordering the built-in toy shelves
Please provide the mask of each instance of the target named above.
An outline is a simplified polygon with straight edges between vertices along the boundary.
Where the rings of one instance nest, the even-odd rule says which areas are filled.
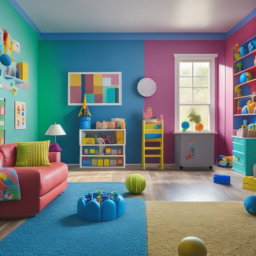
[[[233,134],[233,48],[256,35],[256,17],[226,39],[226,122],[225,122],[225,148],[226,154],[232,155]]]

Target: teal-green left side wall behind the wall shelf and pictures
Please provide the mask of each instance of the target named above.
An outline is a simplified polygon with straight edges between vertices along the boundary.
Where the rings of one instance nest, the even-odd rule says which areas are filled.
[[[16,141],[37,141],[37,73],[38,73],[38,34],[20,16],[7,0],[1,0],[0,27],[20,43],[20,53],[12,53],[16,62],[28,63],[30,91],[20,89],[17,95],[0,89],[0,98],[5,98],[5,143]],[[3,75],[2,75],[3,76]],[[13,79],[1,76],[0,83],[10,85]],[[14,101],[26,102],[26,129],[14,129]]]

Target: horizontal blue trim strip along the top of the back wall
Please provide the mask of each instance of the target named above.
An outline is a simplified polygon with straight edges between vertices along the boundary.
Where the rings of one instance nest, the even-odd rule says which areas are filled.
[[[40,33],[43,40],[225,40],[225,33]]]

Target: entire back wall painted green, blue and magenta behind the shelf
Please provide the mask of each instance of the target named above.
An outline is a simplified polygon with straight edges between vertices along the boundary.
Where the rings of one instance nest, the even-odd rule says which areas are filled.
[[[44,135],[49,125],[60,123],[67,135],[58,136],[57,140],[63,149],[62,160],[66,163],[79,161],[77,115],[81,108],[67,106],[67,72],[122,71],[122,106],[89,106],[89,109],[92,114],[91,128],[95,128],[98,120],[113,117],[126,119],[128,164],[141,163],[142,109],[148,106],[152,107],[154,116],[164,116],[164,163],[174,163],[174,53],[218,53],[216,78],[218,74],[221,78],[220,82],[216,82],[216,102],[219,83],[225,87],[221,68],[225,65],[224,40],[74,42],[39,41],[38,46],[38,138],[49,139]],[[153,96],[144,98],[138,93],[137,84],[147,75],[156,82],[157,90]],[[53,142],[54,138],[50,136],[50,139]]]

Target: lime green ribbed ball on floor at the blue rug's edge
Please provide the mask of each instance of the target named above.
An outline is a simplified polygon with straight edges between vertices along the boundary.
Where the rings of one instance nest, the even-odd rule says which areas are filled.
[[[125,186],[130,193],[139,194],[145,189],[146,180],[141,174],[133,173],[126,178]]]

